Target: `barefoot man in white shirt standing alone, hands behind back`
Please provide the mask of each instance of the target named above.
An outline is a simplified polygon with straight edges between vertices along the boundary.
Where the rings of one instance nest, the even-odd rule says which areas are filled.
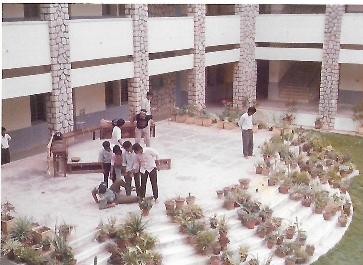
[[[253,131],[252,131],[252,115],[256,113],[255,107],[249,107],[247,112],[242,114],[238,121],[238,126],[242,129],[242,148],[243,156],[248,159],[248,156],[253,154]]]

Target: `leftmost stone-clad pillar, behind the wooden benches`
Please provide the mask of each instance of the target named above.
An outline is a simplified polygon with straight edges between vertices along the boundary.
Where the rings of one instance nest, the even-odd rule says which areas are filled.
[[[46,96],[48,134],[73,130],[72,87],[69,70],[68,4],[41,4],[41,19],[49,21],[52,92]]]

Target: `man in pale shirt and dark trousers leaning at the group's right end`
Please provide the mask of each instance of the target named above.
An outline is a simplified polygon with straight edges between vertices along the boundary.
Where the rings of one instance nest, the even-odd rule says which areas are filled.
[[[138,164],[140,164],[141,185],[139,195],[142,198],[145,197],[147,177],[149,176],[155,203],[158,203],[157,171],[160,170],[159,154],[150,147],[142,148],[138,143],[132,146],[132,150],[136,153],[132,173],[135,172]]]

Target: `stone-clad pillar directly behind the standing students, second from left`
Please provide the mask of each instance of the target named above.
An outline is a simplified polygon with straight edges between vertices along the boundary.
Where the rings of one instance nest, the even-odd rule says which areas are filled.
[[[140,103],[149,91],[147,62],[147,4],[126,4],[126,17],[132,18],[132,34],[134,40],[134,78],[128,81],[129,114],[140,110]]]

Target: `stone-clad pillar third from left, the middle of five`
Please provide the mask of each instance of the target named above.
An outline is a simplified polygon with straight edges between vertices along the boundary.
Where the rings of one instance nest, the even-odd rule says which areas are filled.
[[[205,4],[188,4],[188,16],[194,18],[193,69],[188,74],[188,104],[205,102]]]

